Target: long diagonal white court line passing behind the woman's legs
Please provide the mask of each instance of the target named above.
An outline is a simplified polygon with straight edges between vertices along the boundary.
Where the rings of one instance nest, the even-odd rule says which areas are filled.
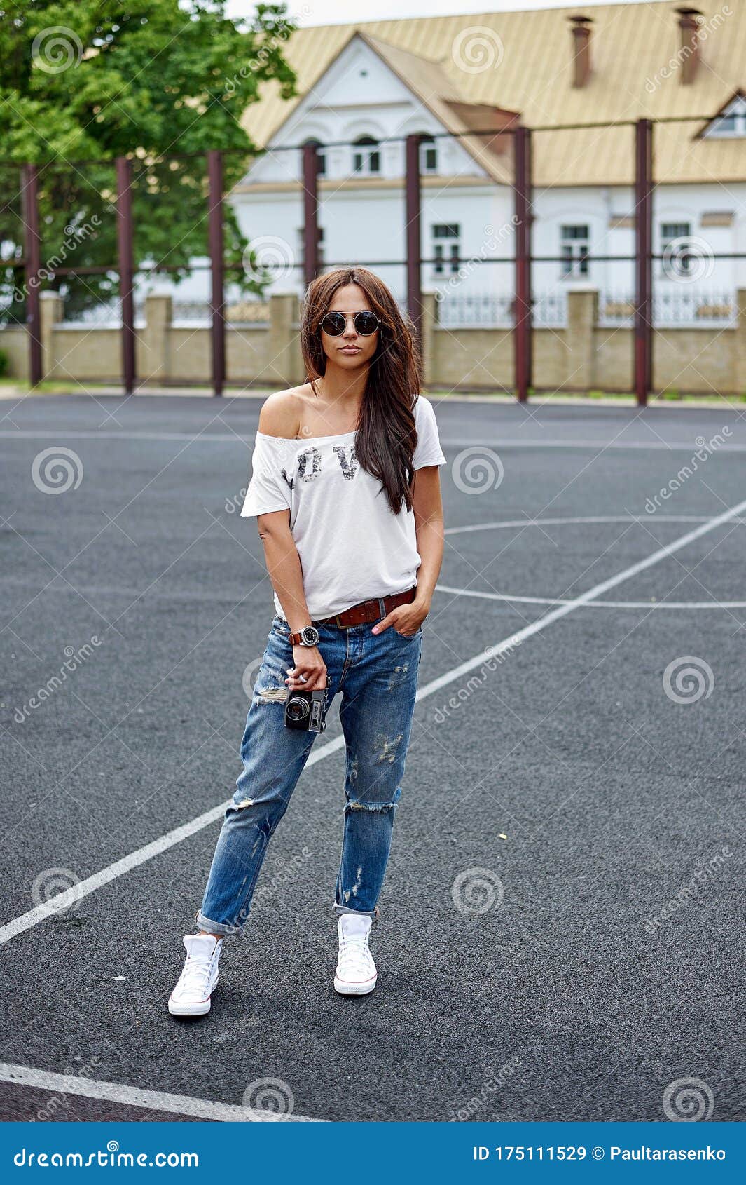
[[[732,519],[739,517],[746,511],[746,499],[739,502],[738,506],[731,507],[731,510],[724,511],[722,514],[718,514],[713,519],[708,519],[707,523],[702,523],[700,526],[694,527],[693,531],[687,531],[686,534],[674,539],[673,543],[667,544],[664,547],[658,547],[654,551],[651,556],[647,559],[641,559],[636,564],[631,564],[625,568],[622,572],[616,576],[611,576],[607,581],[603,581],[600,584],[596,584],[587,592],[581,596],[575,597],[573,601],[568,601],[566,604],[560,604],[555,609],[545,614],[544,617],[539,617],[530,624],[525,626],[523,629],[519,629],[517,633],[512,634],[509,638],[504,638],[501,642],[496,642],[494,646],[485,647],[485,649],[480,651],[472,658],[467,659],[465,662],[461,662],[456,667],[451,667],[444,674],[439,675],[437,679],[432,679],[430,683],[425,684],[424,687],[419,687],[417,691],[416,700],[426,699],[427,696],[435,694],[442,687],[448,686],[449,683],[454,683],[456,679],[461,679],[462,675],[468,674],[469,671],[474,671],[476,667],[482,666],[487,656],[496,656],[502,654],[504,651],[513,649],[520,642],[526,641],[528,638],[533,638],[534,634],[541,633],[548,626],[559,621],[561,617],[566,617],[570,613],[574,613],[575,609],[581,608],[581,606],[587,604],[590,601],[594,601],[597,597],[603,596],[609,589],[616,588],[617,584],[624,583],[624,581],[630,579],[632,576],[637,576],[638,572],[644,572],[645,569],[652,568],[654,564],[658,564],[662,559],[667,559],[673,556],[676,551],[686,547],[687,544],[693,543],[703,534],[708,534],[709,531],[714,531],[716,527],[722,526],[724,523],[729,523]],[[340,735],[335,737],[334,741],[329,741],[322,749],[314,749],[306,763],[306,766],[315,764],[317,761],[323,761],[332,752],[336,752],[339,749],[345,747],[345,737]],[[27,914],[21,914],[20,917],[13,918],[13,921],[7,922],[6,925],[0,928],[0,946],[5,942],[9,942],[18,934],[22,934],[24,930],[30,930],[32,927],[38,925],[46,917],[51,917],[53,914],[60,914],[63,910],[69,909],[70,905],[81,901],[82,897],[88,897],[89,893],[95,892],[96,889],[101,889],[102,885],[109,884],[111,880],[116,880],[117,877],[123,876],[126,872],[130,872],[136,869],[140,864],[144,864],[147,860],[152,860],[155,856],[160,856],[161,852],[167,851],[173,847],[174,844],[180,844],[181,840],[187,839],[195,832],[201,831],[202,827],[207,827],[211,822],[214,822],[224,813],[226,806],[232,800],[229,799],[226,802],[218,807],[213,807],[212,811],[205,812],[205,814],[198,815],[191,822],[184,824],[181,827],[176,827],[174,831],[169,831],[168,834],[161,835],[160,839],[153,840],[152,844],[146,844],[144,847],[139,847],[135,852],[130,852],[129,856],[124,856],[121,860],[116,860],[115,864],[110,864],[107,869],[102,869],[96,872],[92,877],[88,877],[86,880],[81,880],[72,889],[66,889],[64,892],[57,893],[50,901],[44,902],[43,905],[38,905],[36,909],[28,910]]]

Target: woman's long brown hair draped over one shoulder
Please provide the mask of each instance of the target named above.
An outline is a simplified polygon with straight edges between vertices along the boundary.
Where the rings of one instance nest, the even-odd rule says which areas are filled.
[[[320,322],[337,290],[358,284],[381,325],[371,359],[355,435],[359,465],[381,482],[394,514],[412,508],[412,456],[417,446],[414,403],[419,396],[420,358],[413,326],[399,312],[391,292],[367,268],[336,268],[308,286],[301,313],[301,351],[314,393],[326,373],[327,356]]]

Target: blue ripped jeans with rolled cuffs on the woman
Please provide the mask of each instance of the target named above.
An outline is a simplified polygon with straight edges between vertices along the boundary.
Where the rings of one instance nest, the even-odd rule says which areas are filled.
[[[372,634],[374,622],[314,624],[330,679],[329,705],[337,691],[342,693],[340,720],[347,756],[342,857],[333,908],[336,914],[375,918],[401,795],[423,632],[420,627],[406,638],[393,626]],[[288,623],[276,615],[246,717],[240,748],[244,770],[225,813],[197,915],[200,928],[211,934],[233,935],[243,929],[269,841],[320,735],[284,724],[284,680],[288,667],[295,666],[288,633]]]

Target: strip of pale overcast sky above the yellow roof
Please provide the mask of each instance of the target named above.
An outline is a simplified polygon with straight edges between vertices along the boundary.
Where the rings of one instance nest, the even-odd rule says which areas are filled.
[[[578,12],[591,8],[602,0],[583,0]],[[645,0],[625,0],[644,4]],[[386,20],[391,17],[449,17],[456,13],[516,12],[527,8],[570,8],[572,0],[377,0],[361,5],[360,0],[287,0],[288,11],[298,25],[352,25],[360,20]],[[255,11],[252,0],[229,0],[229,15],[249,17]],[[673,5],[671,5],[673,7]]]

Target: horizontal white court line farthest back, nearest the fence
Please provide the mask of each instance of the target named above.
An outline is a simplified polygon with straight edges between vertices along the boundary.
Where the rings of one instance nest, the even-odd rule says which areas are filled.
[[[207,444],[214,442],[216,444],[236,444],[237,442],[247,443],[253,441],[253,430],[250,436],[245,438],[242,437],[239,431],[236,433],[126,433],[126,431],[97,431],[92,428],[79,428],[77,430],[57,431],[54,428],[49,429],[31,429],[31,428],[19,428],[18,431],[12,431],[9,429],[0,430],[0,440],[44,440],[44,441],[58,441],[58,440],[121,440],[121,441],[192,441],[193,444]],[[301,443],[298,441],[298,443]],[[446,448],[467,448],[475,443],[474,440],[449,440],[448,434],[440,434],[440,443]],[[478,443],[487,443],[480,441]],[[604,441],[538,441],[538,440],[516,440],[513,437],[500,437],[493,442],[496,448],[586,448],[586,449],[602,449],[606,451],[609,449],[652,449],[654,451],[686,451],[692,453],[695,449],[693,441],[671,441],[670,443],[661,441],[612,441],[611,443],[604,443]],[[720,453],[746,453],[746,444],[721,444],[718,449]]]

